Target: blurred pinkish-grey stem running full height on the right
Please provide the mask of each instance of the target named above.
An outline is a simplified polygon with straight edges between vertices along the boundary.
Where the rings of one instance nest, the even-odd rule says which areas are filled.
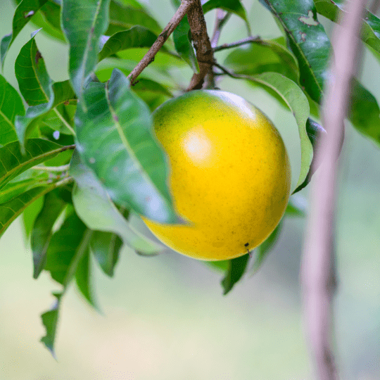
[[[311,182],[310,214],[300,279],[308,343],[315,362],[317,379],[336,380],[331,342],[334,274],[334,214],[336,201],[336,161],[343,138],[343,120],[348,107],[350,81],[358,60],[361,13],[366,1],[348,2],[341,27],[334,28],[330,80],[322,106],[322,121],[327,134],[317,144],[315,167],[319,173]],[[323,160],[323,161],[322,161]]]

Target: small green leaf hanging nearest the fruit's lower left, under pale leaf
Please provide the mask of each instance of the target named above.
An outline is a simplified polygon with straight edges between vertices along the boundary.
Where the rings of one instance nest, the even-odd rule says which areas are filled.
[[[99,262],[103,272],[113,277],[120,248],[122,248],[122,239],[111,232],[94,231],[89,244],[94,258]]]

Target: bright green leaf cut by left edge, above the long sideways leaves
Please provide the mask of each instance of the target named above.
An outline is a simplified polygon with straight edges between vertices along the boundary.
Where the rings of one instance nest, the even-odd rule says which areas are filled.
[[[0,147],[17,140],[15,115],[25,113],[23,100],[18,92],[0,75]]]

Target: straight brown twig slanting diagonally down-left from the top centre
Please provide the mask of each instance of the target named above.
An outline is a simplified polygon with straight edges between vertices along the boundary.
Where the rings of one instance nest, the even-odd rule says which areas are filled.
[[[144,68],[146,68],[146,66],[148,66],[149,63],[154,60],[154,56],[156,56],[156,53],[158,53],[163,44],[165,44],[165,41],[169,38],[170,34],[172,34],[173,30],[175,30],[175,28],[178,26],[182,18],[184,18],[184,15],[186,15],[189,9],[194,6],[194,1],[196,0],[182,0],[182,3],[175,12],[175,15],[166,25],[165,29],[157,37],[156,41],[151,46],[151,49],[146,52],[145,56],[128,75],[128,78],[132,85],[134,83],[134,80],[136,80],[136,78],[141,74],[142,70],[144,70]]]

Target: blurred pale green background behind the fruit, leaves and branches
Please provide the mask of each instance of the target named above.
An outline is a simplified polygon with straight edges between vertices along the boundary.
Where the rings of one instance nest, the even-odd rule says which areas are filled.
[[[243,1],[253,34],[279,35],[258,1]],[[146,5],[162,26],[174,13],[170,1]],[[11,32],[14,7],[0,3],[0,36]],[[207,15],[211,34],[215,13]],[[321,19],[321,18],[320,18]],[[331,25],[322,19],[331,32]],[[3,75],[17,86],[14,61],[34,30],[19,34]],[[235,16],[220,43],[245,36]],[[68,79],[68,49],[42,33],[36,37],[53,80]],[[226,53],[217,53],[222,63]],[[184,85],[191,72],[173,70]],[[380,100],[380,70],[365,52],[362,82]],[[289,150],[293,183],[299,170],[299,139],[290,113],[264,91],[223,80],[219,87],[244,96],[279,128]],[[338,292],[334,303],[336,360],[344,380],[380,379],[380,150],[347,124],[337,205]],[[308,189],[301,192],[308,198]],[[148,230],[137,217],[134,224]],[[49,275],[32,279],[32,257],[20,220],[0,240],[0,380],[309,380],[298,279],[305,220],[288,218],[274,250],[255,276],[247,274],[222,296],[221,274],[171,252],[142,258],[127,248],[113,279],[94,266],[103,315],[75,286],[61,309],[56,355],[39,343],[39,315],[58,290]],[[315,234],[318,232],[316,231]]]

